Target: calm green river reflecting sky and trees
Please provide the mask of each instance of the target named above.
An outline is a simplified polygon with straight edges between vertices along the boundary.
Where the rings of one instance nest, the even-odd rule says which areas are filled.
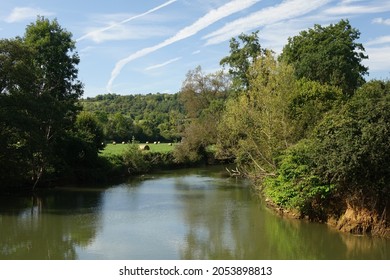
[[[0,197],[0,259],[390,259],[390,241],[278,217],[224,167]]]

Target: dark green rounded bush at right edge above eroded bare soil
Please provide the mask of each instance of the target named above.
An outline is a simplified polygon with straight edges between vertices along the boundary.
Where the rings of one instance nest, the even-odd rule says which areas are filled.
[[[386,204],[390,184],[390,83],[372,81],[319,124],[317,172],[341,192]],[[364,201],[361,201],[364,203]]]

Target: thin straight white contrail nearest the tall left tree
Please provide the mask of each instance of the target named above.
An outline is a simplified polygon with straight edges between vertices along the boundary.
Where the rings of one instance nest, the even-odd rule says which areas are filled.
[[[105,41],[105,40],[112,40],[114,38],[118,38],[118,37],[115,37],[115,36],[112,36],[110,33],[106,33],[105,31],[108,31],[110,29],[120,29],[120,26],[129,22],[129,21],[132,21],[132,20],[135,20],[137,18],[140,18],[140,17],[144,17],[148,14],[151,14],[153,12],[156,12],[170,4],[173,4],[175,3],[177,0],[169,0],[157,7],[154,7],[153,9],[150,9],[142,14],[138,14],[138,15],[135,15],[135,16],[131,16],[129,18],[126,18],[125,20],[122,20],[120,22],[117,22],[117,23],[112,23],[110,24],[109,26],[107,27],[104,27],[104,28],[100,28],[100,29],[96,29],[96,30],[92,30],[90,32],[88,32],[87,34],[81,36],[80,38],[77,39],[77,41],[82,41],[84,39],[87,39],[87,38],[92,38],[92,40],[94,40],[95,42],[101,42],[101,41]],[[123,34],[122,34],[123,35]],[[128,34],[126,36],[124,36],[124,38],[128,38]],[[119,38],[122,38],[123,36],[119,36]]]

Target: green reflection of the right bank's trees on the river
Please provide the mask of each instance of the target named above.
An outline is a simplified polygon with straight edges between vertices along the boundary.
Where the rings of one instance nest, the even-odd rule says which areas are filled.
[[[390,242],[275,216],[249,186],[197,176],[175,181],[188,226],[182,259],[389,259]],[[196,199],[195,199],[196,198]]]

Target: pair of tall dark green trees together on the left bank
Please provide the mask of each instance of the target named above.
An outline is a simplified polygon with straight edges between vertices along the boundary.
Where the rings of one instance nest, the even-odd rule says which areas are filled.
[[[74,128],[83,89],[72,35],[56,20],[38,17],[22,38],[0,43],[0,157],[11,156],[15,174],[35,186],[64,165],[62,144]],[[76,152],[76,151],[75,151]],[[11,179],[12,181],[12,179]]]

